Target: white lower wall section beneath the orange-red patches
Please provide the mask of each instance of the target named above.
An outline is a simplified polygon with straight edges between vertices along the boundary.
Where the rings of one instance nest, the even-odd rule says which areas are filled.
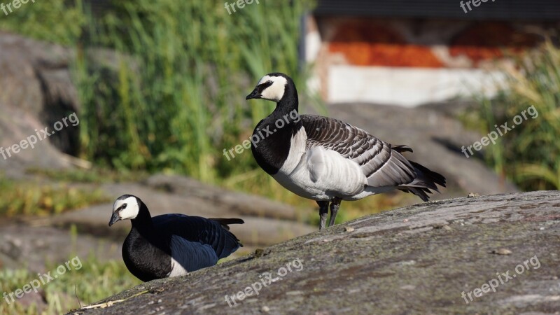
[[[503,79],[502,73],[482,69],[332,65],[328,67],[326,101],[414,107],[475,92],[491,96]]]

